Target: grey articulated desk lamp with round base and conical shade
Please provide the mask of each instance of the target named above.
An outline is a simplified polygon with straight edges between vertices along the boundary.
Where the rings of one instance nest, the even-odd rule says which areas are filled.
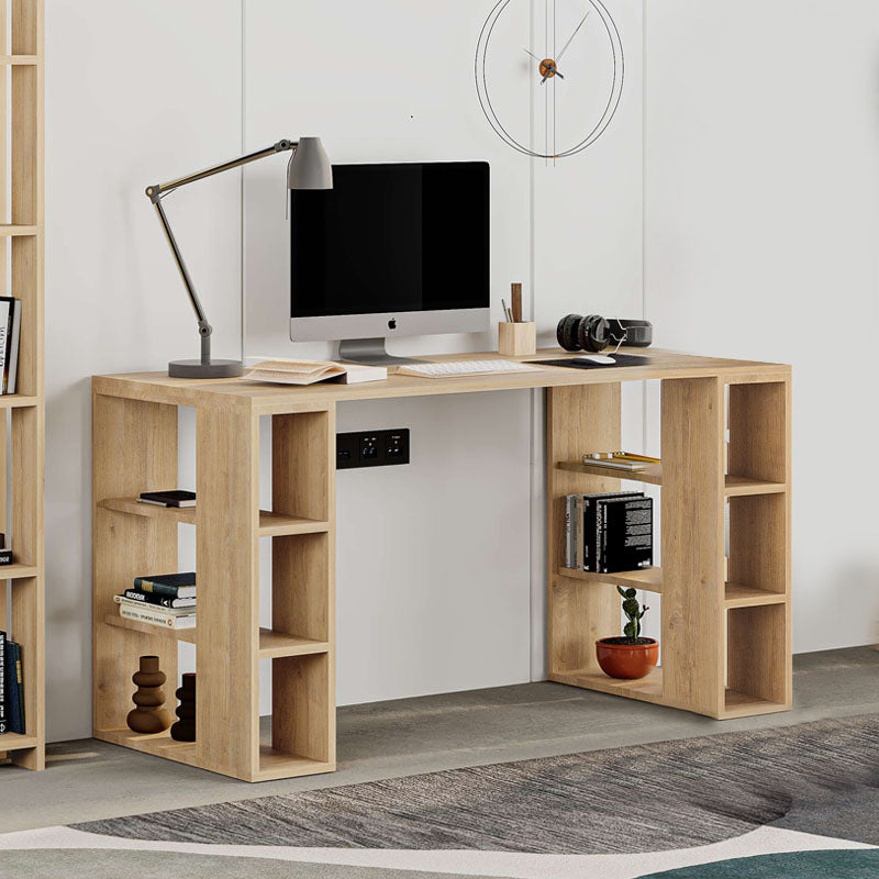
[[[320,137],[301,137],[299,141],[278,141],[274,146],[268,146],[257,153],[251,153],[241,158],[224,162],[222,165],[214,165],[212,168],[205,168],[203,171],[190,174],[188,177],[180,177],[167,183],[148,186],[146,188],[147,198],[155,205],[156,213],[162,222],[162,227],[165,230],[165,236],[168,238],[168,244],[174,254],[174,259],[177,263],[177,268],[180,270],[180,277],[183,279],[186,291],[189,293],[189,301],[192,303],[192,308],[196,312],[199,335],[201,336],[201,358],[198,360],[171,360],[171,363],[168,364],[169,376],[174,376],[175,378],[235,378],[244,371],[244,364],[241,360],[211,359],[211,333],[213,332],[213,327],[208,323],[204,309],[199,301],[182,254],[177,246],[177,240],[174,237],[168,218],[162,207],[162,200],[187,183],[194,183],[196,180],[203,180],[205,177],[213,177],[215,174],[240,168],[242,165],[248,165],[260,158],[274,156],[276,153],[283,153],[287,151],[292,152],[290,163],[287,166],[288,189],[333,188],[333,169]]]

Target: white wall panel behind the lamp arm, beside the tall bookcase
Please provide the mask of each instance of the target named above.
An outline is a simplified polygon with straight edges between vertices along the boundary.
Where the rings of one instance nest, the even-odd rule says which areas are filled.
[[[241,10],[238,0],[46,7],[46,677],[48,737],[59,741],[91,728],[89,379],[198,356],[144,188],[237,153]],[[233,355],[238,192],[231,176],[166,202],[215,351]]]

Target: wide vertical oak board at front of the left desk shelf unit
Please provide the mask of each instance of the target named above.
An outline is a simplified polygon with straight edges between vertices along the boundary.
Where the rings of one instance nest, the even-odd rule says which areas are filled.
[[[246,411],[196,413],[196,756],[205,769],[245,780],[259,752],[258,431]]]

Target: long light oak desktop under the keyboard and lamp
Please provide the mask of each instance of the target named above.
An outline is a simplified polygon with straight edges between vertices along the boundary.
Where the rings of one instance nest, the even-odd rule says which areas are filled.
[[[271,414],[326,409],[345,400],[375,400],[392,397],[427,397],[443,393],[475,393],[480,391],[528,388],[559,388],[572,385],[602,385],[617,381],[643,381],[671,378],[719,377],[730,383],[753,381],[785,381],[790,367],[782,364],[754,360],[731,360],[677,354],[658,348],[621,348],[621,353],[650,358],[645,366],[571,369],[542,367],[539,372],[501,372],[446,378],[421,378],[391,374],[387,381],[365,381],[358,385],[319,382],[308,386],[267,385],[242,379],[212,381],[170,378],[167,372],[132,372],[96,376],[92,387],[97,393],[176,405],[247,407]],[[423,360],[531,360],[576,357],[560,348],[544,348],[527,357],[501,357],[497,352],[467,354],[413,355]]]

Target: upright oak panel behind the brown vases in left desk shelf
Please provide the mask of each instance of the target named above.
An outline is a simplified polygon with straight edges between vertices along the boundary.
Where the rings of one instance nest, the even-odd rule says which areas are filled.
[[[177,408],[92,397],[92,499],[132,494],[177,483]],[[125,726],[138,657],[159,657],[177,679],[177,644],[160,632],[104,625],[119,615],[113,596],[151,571],[177,570],[177,523],[92,510],[93,728]],[[109,741],[109,739],[108,739]]]

